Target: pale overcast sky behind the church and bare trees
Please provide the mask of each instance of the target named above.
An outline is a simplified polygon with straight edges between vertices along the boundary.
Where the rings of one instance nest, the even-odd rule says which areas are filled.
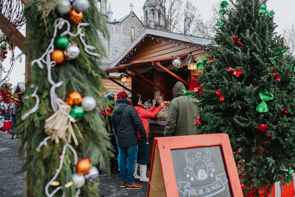
[[[130,13],[130,4],[132,3],[133,10],[139,19],[143,16],[143,5],[146,0],[109,0],[111,2],[111,8],[113,11],[113,19],[120,19]],[[185,1],[185,0],[183,0]],[[206,21],[212,15],[212,5],[216,2],[221,2],[221,0],[191,0],[191,2],[200,10],[202,18]],[[109,6],[109,4],[108,4]],[[275,12],[274,21],[277,23],[278,28],[276,31],[278,33],[283,33],[282,29],[286,26],[291,26],[295,23],[295,0],[268,0],[266,3],[268,10],[273,10]],[[24,34],[24,31],[21,31]],[[15,55],[18,56],[21,51],[16,48]],[[8,52],[8,56],[3,60],[3,66],[7,71],[9,69],[9,59],[11,55]],[[44,68],[46,69],[46,67]],[[12,73],[10,74],[10,83],[16,85],[18,82],[25,82],[25,56],[22,55],[22,62],[16,60],[15,66]],[[2,78],[6,73],[2,72]],[[45,79],[46,80],[46,79]]]

